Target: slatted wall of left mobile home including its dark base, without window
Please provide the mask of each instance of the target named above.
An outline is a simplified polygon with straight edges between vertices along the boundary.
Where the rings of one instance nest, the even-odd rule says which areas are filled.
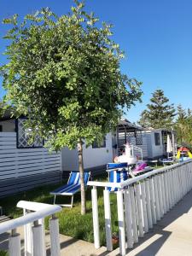
[[[0,197],[61,182],[61,154],[17,148],[16,132],[0,132]]]

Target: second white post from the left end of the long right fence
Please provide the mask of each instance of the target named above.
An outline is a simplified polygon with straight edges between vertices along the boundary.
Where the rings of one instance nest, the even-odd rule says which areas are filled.
[[[103,190],[103,199],[104,199],[104,211],[105,211],[105,234],[107,242],[107,250],[113,251],[112,244],[112,229],[111,229],[111,207],[110,207],[110,197],[108,188]]]

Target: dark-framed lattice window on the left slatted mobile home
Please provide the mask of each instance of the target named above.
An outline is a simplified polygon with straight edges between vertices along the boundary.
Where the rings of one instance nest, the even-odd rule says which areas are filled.
[[[17,148],[43,148],[44,140],[36,136],[35,140],[32,139],[32,129],[26,128],[26,119],[17,119],[16,130],[17,130]]]

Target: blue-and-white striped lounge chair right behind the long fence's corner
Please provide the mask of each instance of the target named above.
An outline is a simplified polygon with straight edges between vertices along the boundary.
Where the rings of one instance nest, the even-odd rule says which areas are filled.
[[[109,183],[120,183],[128,179],[128,165],[127,163],[109,163],[107,165],[108,181]],[[115,192],[117,188],[108,188],[110,192]]]

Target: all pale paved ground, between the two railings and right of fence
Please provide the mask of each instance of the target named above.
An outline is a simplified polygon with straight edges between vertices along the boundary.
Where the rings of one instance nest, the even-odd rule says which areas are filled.
[[[20,230],[22,233],[22,230]],[[46,236],[49,253],[49,234]],[[0,249],[8,247],[8,234],[0,236]],[[61,236],[61,256],[116,256],[119,250],[107,253],[106,248],[96,250],[93,244]],[[127,256],[192,256],[192,191],[172,208],[154,230],[140,239]],[[40,256],[40,255],[39,255]]]

